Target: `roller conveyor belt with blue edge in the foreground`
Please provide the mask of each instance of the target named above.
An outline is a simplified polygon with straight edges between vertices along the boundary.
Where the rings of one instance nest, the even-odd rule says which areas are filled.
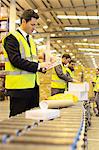
[[[84,146],[84,136],[86,129],[86,111],[83,104],[77,104],[70,108],[60,109],[61,117],[54,120],[36,122],[26,119],[24,115],[12,117],[4,120],[0,124],[0,148],[4,150],[68,150]],[[88,120],[88,119],[87,119]],[[12,126],[12,128],[11,128]],[[26,126],[29,127],[26,129]],[[16,129],[21,132],[16,134]],[[29,130],[28,130],[29,129]],[[7,134],[11,137],[2,141],[2,137]],[[14,135],[14,136],[13,136]],[[7,149],[8,148],[8,149]]]

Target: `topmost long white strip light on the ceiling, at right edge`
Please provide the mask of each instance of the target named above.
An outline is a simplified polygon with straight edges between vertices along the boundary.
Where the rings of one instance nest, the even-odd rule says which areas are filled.
[[[98,20],[99,16],[66,16],[66,15],[57,15],[59,19],[93,19]]]

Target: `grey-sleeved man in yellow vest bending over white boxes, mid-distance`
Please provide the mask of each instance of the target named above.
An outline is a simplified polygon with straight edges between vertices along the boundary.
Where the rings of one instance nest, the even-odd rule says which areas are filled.
[[[53,68],[51,80],[51,95],[64,93],[67,82],[73,81],[72,77],[66,73],[66,67],[68,66],[70,61],[70,55],[64,54],[62,56],[62,63]]]

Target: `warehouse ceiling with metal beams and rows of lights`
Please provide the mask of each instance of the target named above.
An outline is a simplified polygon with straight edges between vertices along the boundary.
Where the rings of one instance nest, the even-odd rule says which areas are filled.
[[[10,0],[1,4],[9,9]],[[40,45],[50,36],[51,50],[70,53],[85,67],[99,66],[99,0],[16,0],[16,8],[17,18],[24,9],[38,10],[33,36],[45,39]]]

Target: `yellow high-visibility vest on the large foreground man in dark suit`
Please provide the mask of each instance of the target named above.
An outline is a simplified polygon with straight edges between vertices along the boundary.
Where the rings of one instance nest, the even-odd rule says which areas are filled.
[[[15,31],[14,33],[10,33],[10,34],[15,36],[15,38],[19,42],[21,58],[32,62],[38,62],[36,47],[32,37],[30,37],[30,47],[29,47],[25,38],[18,31]],[[3,39],[3,43],[4,43],[4,39]],[[31,48],[31,54],[30,54],[30,48]],[[32,73],[14,67],[9,61],[8,55],[5,50],[4,50],[4,57],[5,57],[5,72],[7,72],[6,79],[5,79],[6,89],[34,88],[35,82],[39,85],[38,72]]]

